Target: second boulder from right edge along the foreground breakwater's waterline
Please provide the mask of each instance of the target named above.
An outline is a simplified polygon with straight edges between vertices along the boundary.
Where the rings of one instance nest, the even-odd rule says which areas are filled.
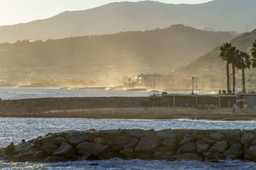
[[[227,160],[243,159],[243,154],[243,146],[241,144],[234,144],[223,153]]]

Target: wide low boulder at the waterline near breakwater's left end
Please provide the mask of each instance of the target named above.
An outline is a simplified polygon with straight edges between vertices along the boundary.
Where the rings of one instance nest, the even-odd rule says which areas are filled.
[[[38,162],[44,159],[44,153],[40,149],[30,148],[13,155],[12,159],[15,162]]]

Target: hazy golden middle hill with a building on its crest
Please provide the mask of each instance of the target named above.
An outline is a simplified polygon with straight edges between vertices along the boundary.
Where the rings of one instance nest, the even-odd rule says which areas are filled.
[[[115,68],[120,73],[128,70],[164,73],[189,64],[235,36],[173,25],[143,32],[3,43],[0,44],[0,69],[56,68],[51,74],[84,74],[93,69]]]

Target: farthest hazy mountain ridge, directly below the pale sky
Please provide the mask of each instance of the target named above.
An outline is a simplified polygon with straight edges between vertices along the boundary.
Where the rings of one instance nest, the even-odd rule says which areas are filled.
[[[255,0],[215,0],[203,4],[155,1],[111,3],[84,11],[65,11],[45,20],[0,27],[0,42],[145,31],[172,24],[245,32],[256,27]],[[15,12],[15,11],[13,11]]]

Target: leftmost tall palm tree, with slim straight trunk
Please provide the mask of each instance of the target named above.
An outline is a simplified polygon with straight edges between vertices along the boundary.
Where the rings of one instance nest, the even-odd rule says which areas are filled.
[[[227,92],[229,94],[229,64],[231,63],[230,60],[230,48],[231,48],[230,43],[224,43],[223,45],[220,46],[220,58],[226,62],[226,67],[227,67]]]

